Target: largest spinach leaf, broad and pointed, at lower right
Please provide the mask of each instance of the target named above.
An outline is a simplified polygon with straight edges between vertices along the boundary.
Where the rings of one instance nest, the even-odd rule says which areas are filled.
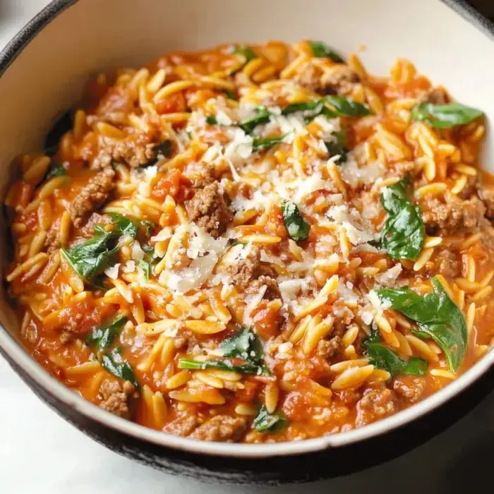
[[[421,335],[432,338],[445,354],[450,370],[462,365],[466,353],[467,331],[462,311],[454,304],[437,277],[431,280],[433,291],[425,296],[408,287],[377,290],[382,302],[414,320]]]

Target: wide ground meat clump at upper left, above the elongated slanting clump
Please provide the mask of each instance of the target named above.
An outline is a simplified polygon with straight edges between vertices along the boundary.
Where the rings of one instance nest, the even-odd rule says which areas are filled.
[[[107,168],[113,161],[125,162],[137,168],[156,157],[156,143],[152,142],[152,136],[149,134],[129,135],[123,140],[100,135],[98,145],[98,154],[90,165],[94,170]]]

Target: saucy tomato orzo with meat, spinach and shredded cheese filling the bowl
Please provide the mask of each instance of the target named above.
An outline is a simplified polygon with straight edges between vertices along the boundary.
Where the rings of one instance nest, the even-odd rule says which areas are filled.
[[[484,132],[409,61],[376,77],[321,42],[101,74],[16,159],[23,341],[90,402],[195,439],[394,414],[490,347]]]

